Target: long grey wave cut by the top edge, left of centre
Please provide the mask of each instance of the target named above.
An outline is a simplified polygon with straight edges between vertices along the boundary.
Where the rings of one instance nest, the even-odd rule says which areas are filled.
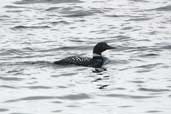
[[[36,4],[36,3],[51,3],[51,4],[82,3],[82,1],[80,0],[21,0],[15,2],[15,4]]]

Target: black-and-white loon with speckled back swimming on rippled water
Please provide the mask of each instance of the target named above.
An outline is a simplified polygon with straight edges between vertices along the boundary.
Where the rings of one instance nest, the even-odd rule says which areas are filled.
[[[62,60],[55,61],[54,64],[58,64],[58,65],[73,64],[73,65],[79,65],[79,66],[101,68],[105,62],[105,59],[101,53],[108,49],[115,49],[115,47],[109,46],[106,42],[99,42],[93,48],[93,58],[70,56]]]

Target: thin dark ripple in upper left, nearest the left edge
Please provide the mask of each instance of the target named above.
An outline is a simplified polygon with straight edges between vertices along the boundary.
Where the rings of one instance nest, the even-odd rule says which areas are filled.
[[[50,28],[50,26],[24,26],[24,25],[17,25],[12,27],[11,29],[16,30],[16,29],[45,29],[45,28]]]

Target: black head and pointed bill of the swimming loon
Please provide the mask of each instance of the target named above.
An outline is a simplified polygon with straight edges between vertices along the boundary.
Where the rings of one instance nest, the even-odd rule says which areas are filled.
[[[106,42],[99,42],[95,45],[93,53],[101,55],[103,51],[106,51],[108,49],[115,49],[115,47],[109,46]]]

